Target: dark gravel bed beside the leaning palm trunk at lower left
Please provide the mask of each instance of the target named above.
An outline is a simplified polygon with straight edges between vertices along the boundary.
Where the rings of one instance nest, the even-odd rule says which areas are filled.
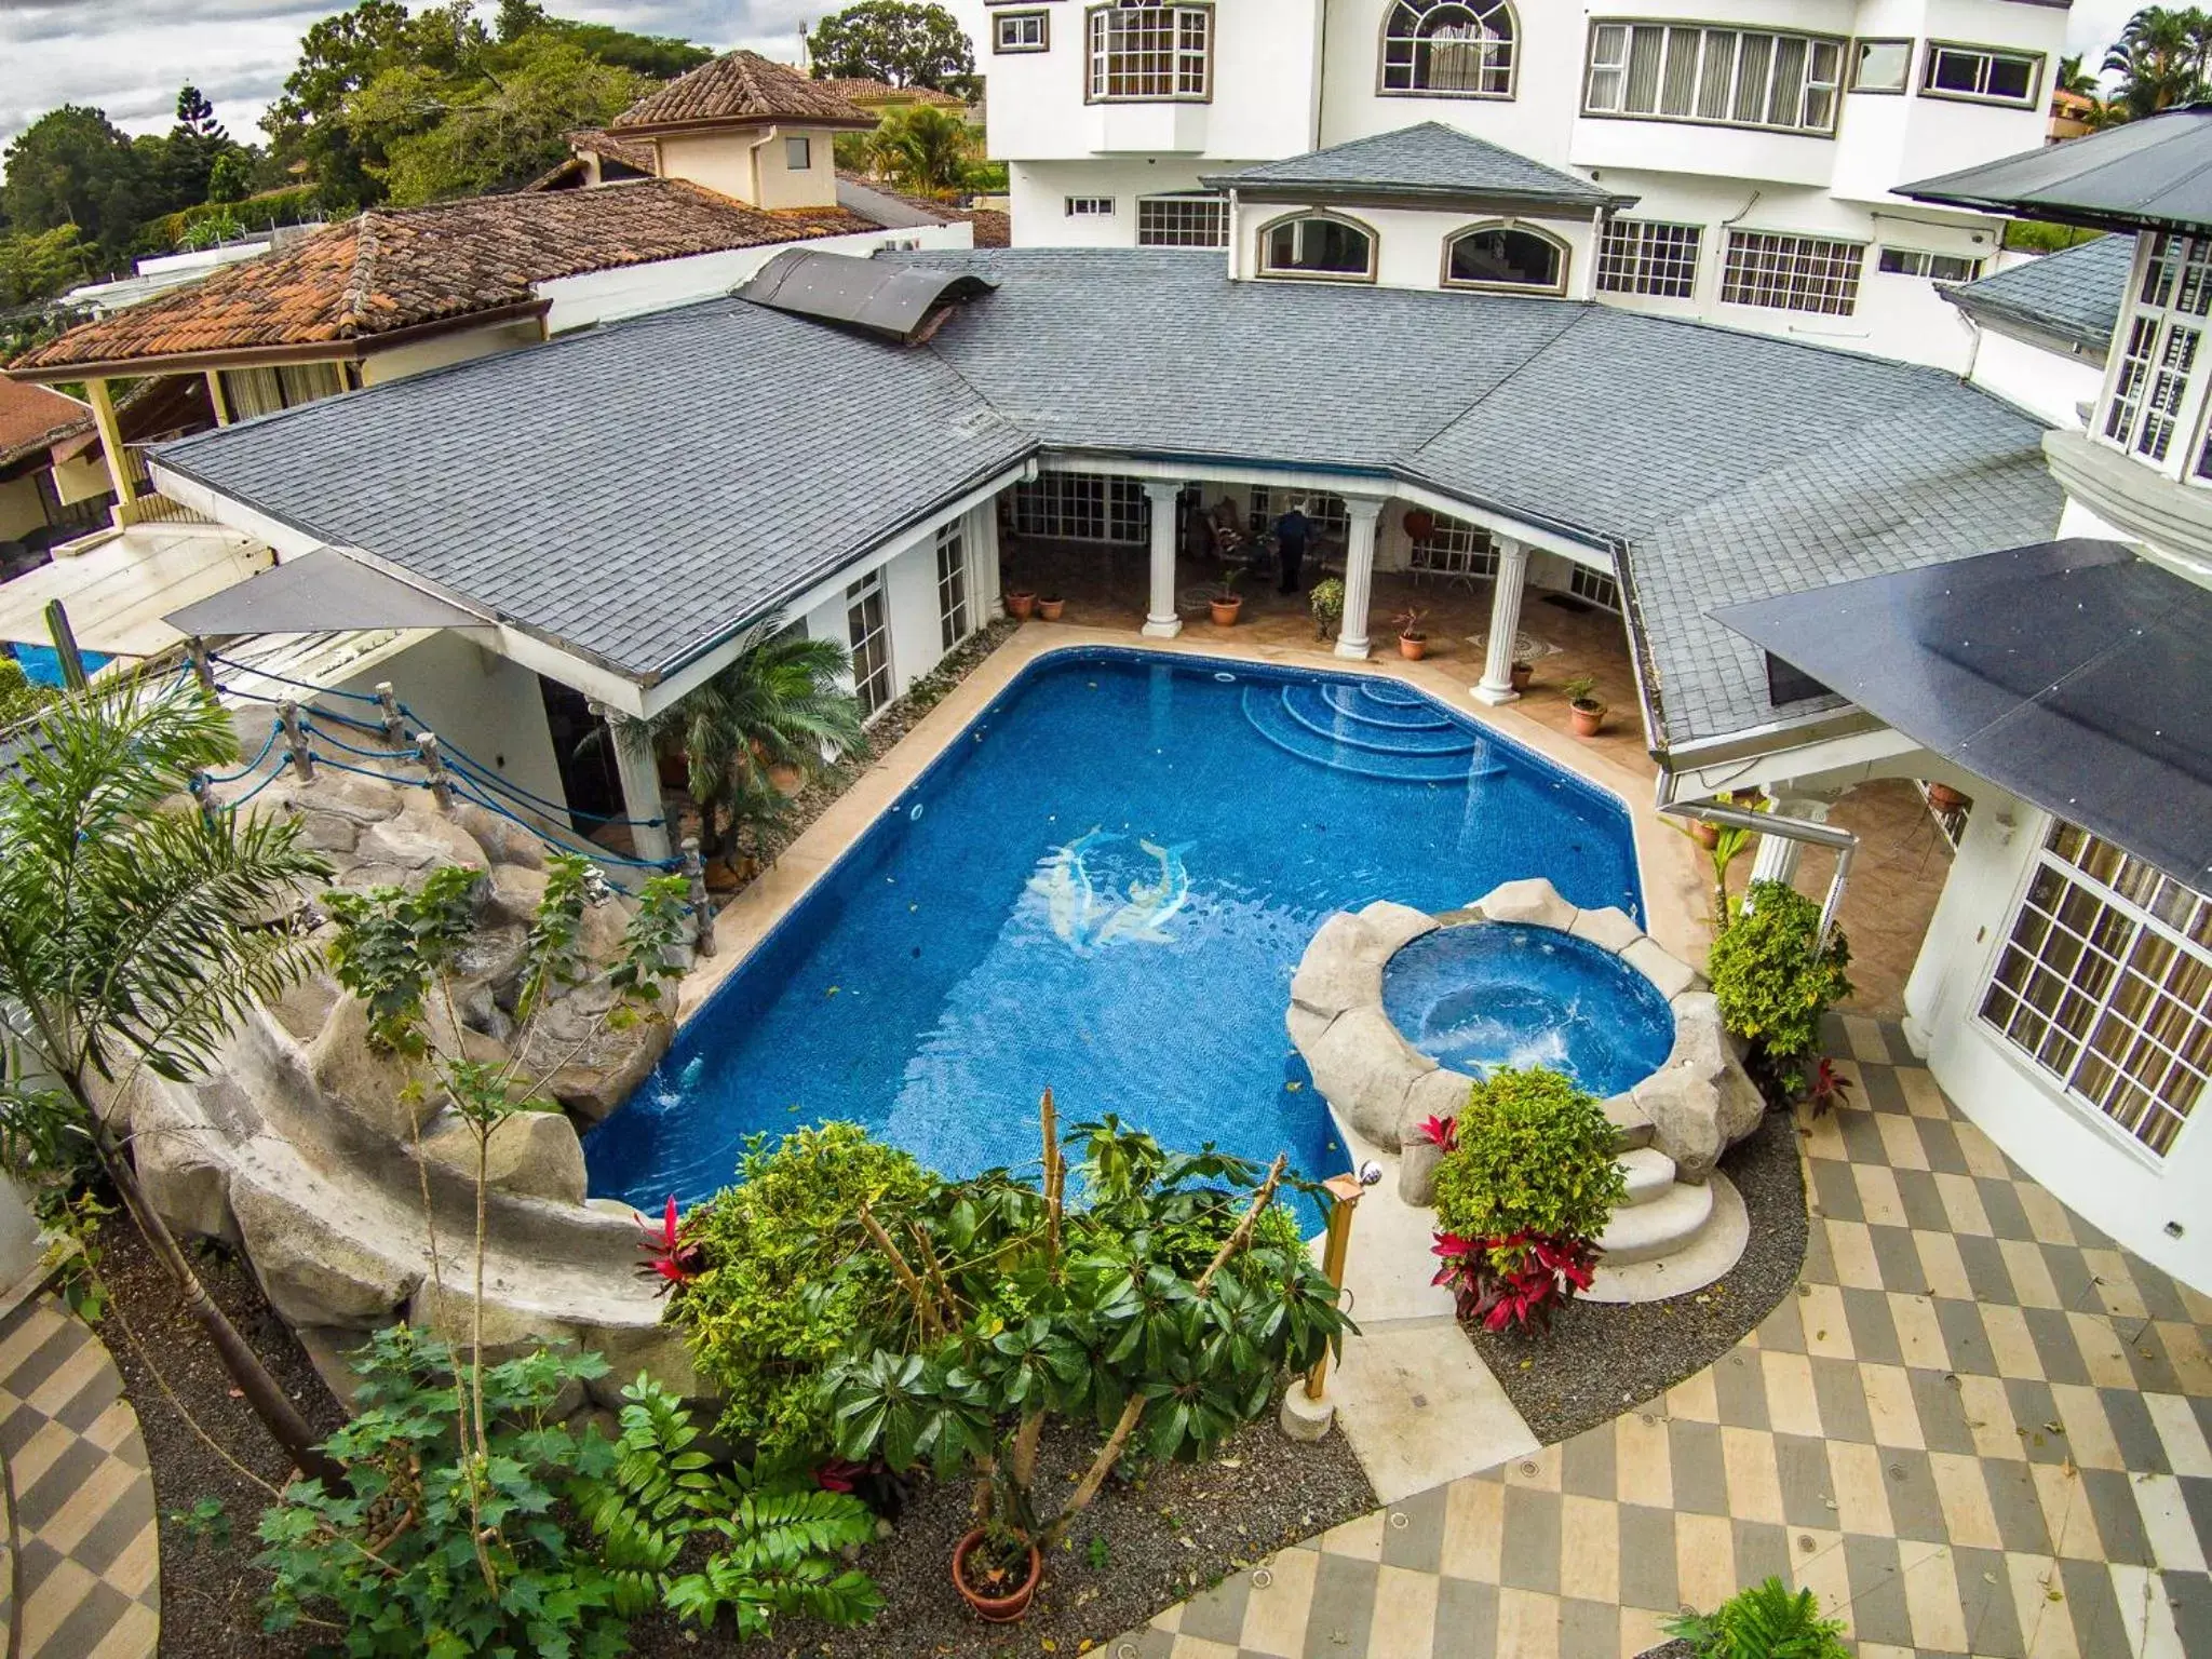
[[[184,1312],[137,1228],[119,1214],[106,1217],[100,1250],[100,1276],[113,1301],[95,1329],[115,1356],[124,1394],[137,1409],[161,1515],[161,1659],[294,1659],[305,1652],[296,1635],[261,1635],[268,1573],[252,1562],[261,1553],[254,1526],[268,1493],[192,1433],[155,1380],[146,1354],[157,1356],[168,1391],[190,1407],[208,1438],[237,1462],[272,1486],[285,1482],[292,1464],[246,1400],[234,1398],[230,1374]],[[336,1429],[345,1413],[305,1349],[270,1312],[246,1263],[217,1245],[188,1245],[188,1254],[217,1307],[299,1402],[307,1427],[319,1436]],[[201,1498],[223,1504],[223,1517],[212,1531],[181,1520]]]

